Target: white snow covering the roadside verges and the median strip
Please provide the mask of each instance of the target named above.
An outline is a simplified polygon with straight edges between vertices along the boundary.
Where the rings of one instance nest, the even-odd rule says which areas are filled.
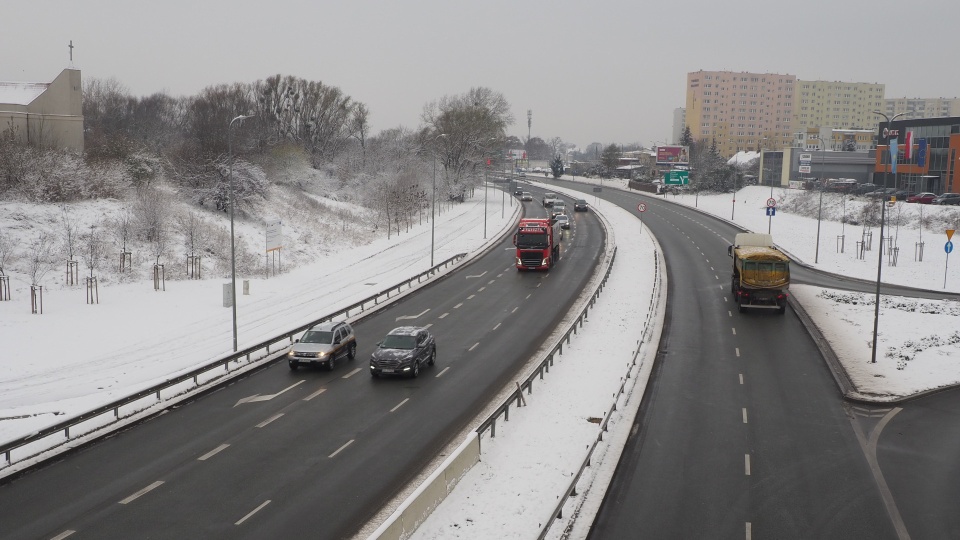
[[[604,181],[604,186],[616,184]],[[736,196],[735,211],[730,194],[669,195],[666,199],[697,206],[725,219],[734,211],[738,224],[766,232],[764,206],[769,196],[769,188],[742,189]],[[876,278],[879,231],[872,230],[874,250],[860,260],[854,255],[854,242],[862,237],[863,228],[841,226],[835,221],[844,210],[841,204],[847,206],[846,215],[851,216],[860,202],[848,199],[841,203],[836,197],[824,197],[824,216],[830,219],[820,224],[819,252],[815,252],[817,220],[790,212],[791,208],[809,210],[811,194],[777,188],[774,197],[781,206],[771,232],[776,242],[799,261],[840,274]],[[505,204],[503,201],[499,192],[490,192],[487,240],[483,238],[482,192],[466,204],[446,209],[437,220],[435,259],[476,251],[496,236],[512,222],[512,210],[516,208],[510,206],[510,197]],[[923,231],[923,261],[914,260],[914,244],[921,239],[916,225],[921,209],[924,222],[936,216],[932,221],[936,227],[951,220],[960,222],[960,218],[950,216],[957,212],[952,207],[901,205],[892,209],[891,216],[900,223],[893,234],[902,253],[895,267],[885,261],[883,280],[960,291],[960,262],[952,267],[947,264],[942,230]],[[86,210],[83,205],[76,210],[103,212],[93,203]],[[637,226],[629,213],[609,203],[600,202],[592,210],[606,216],[617,237],[631,235],[631,227]],[[908,220],[912,213],[916,218]],[[5,216],[0,221],[5,230],[26,230],[17,227],[27,227],[25,223],[36,219],[22,205],[6,204],[0,208],[0,216]],[[255,223],[240,223],[238,230],[251,238],[263,234],[261,225]],[[844,253],[836,249],[840,234],[847,236]],[[651,267],[653,240],[640,237],[643,243],[636,247],[644,251],[645,246],[646,258],[631,259],[636,255],[631,255],[627,243],[621,243],[611,282],[591,312],[590,322],[565,348],[557,367],[530,396],[528,407],[514,411],[508,424],[498,425],[496,440],[484,441],[483,462],[466,475],[454,494],[421,527],[419,538],[529,538],[539,530],[596,434],[597,426],[589,419],[602,417],[612,404],[619,378],[626,374],[637,347],[650,292],[630,288],[645,280],[619,278],[623,277],[623,268],[631,268],[635,277],[635,267]],[[239,346],[313,320],[419,273],[429,266],[429,253],[430,226],[424,222],[390,239],[377,237],[350,249],[332,249],[314,263],[301,264],[269,279],[251,279],[251,294],[238,297]],[[818,261],[813,264],[815,257]],[[82,287],[64,286],[61,279],[44,289],[43,315],[32,315],[23,281],[14,280],[13,300],[0,302],[0,440],[12,440],[228,353],[232,330],[230,310],[222,307],[223,283],[222,278],[179,279],[168,281],[166,291],[157,292],[149,279],[114,282],[101,285],[100,304],[90,306],[85,303]],[[826,333],[864,394],[879,398],[908,396],[960,380],[960,368],[952,363],[960,341],[955,334],[960,310],[954,302],[886,298],[881,309],[878,362],[869,364],[872,295],[799,286],[792,291]],[[615,324],[604,319],[610,314],[616,314]],[[604,322],[591,324],[597,321]],[[617,330],[604,332],[599,328]],[[609,355],[604,355],[611,357],[609,366],[604,364],[601,369],[595,365],[598,355],[592,354],[596,344],[591,340],[609,344],[605,345],[610,347]],[[584,367],[587,363],[590,369]],[[598,378],[586,381],[584,374],[594,371]],[[618,407],[611,433],[598,447],[598,454],[606,459],[594,461],[591,476],[583,479],[587,485],[602,486],[604,475],[616,465],[616,441],[626,437],[626,430],[617,428],[630,425],[645,381],[642,376],[632,380],[637,381],[630,397],[632,406]],[[583,491],[596,494],[599,490]],[[580,511],[589,515],[589,497],[572,504],[584,505]],[[573,514],[564,512],[565,517]]]

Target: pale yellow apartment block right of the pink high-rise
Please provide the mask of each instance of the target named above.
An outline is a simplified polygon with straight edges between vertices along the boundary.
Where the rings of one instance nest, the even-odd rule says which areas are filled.
[[[883,117],[884,85],[841,81],[797,81],[794,132],[807,129],[875,129]]]

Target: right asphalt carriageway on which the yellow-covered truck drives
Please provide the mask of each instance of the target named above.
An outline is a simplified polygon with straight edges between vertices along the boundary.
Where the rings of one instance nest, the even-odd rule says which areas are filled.
[[[600,196],[635,214],[647,203],[669,289],[657,365],[591,538],[896,538],[798,318],[734,309],[736,229],[656,196]]]

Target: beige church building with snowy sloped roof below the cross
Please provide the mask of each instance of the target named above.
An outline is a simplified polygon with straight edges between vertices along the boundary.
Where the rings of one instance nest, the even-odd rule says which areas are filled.
[[[0,133],[22,143],[83,152],[80,70],[65,69],[53,82],[0,82]]]

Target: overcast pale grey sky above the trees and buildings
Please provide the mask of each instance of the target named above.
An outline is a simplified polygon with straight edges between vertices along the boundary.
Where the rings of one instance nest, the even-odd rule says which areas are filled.
[[[670,137],[699,69],[877,82],[960,97],[956,0],[0,0],[0,80],[74,66],[138,96],[293,75],[340,87],[373,132],[423,106],[502,93],[509,134],[586,146]]]

